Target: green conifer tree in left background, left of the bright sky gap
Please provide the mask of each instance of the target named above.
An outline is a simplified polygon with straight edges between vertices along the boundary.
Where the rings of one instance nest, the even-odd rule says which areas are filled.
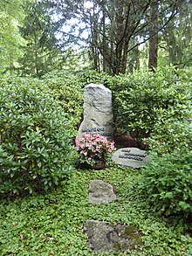
[[[20,27],[24,56],[20,59],[23,73],[41,76],[56,69],[62,62],[61,51],[55,32],[57,24],[53,23],[51,12],[44,3],[25,3],[23,25]]]

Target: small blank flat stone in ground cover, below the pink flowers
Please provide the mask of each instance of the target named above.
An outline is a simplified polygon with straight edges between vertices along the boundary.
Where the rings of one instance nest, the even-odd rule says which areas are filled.
[[[92,204],[107,204],[116,200],[113,185],[102,180],[93,180],[89,184],[89,202]]]

